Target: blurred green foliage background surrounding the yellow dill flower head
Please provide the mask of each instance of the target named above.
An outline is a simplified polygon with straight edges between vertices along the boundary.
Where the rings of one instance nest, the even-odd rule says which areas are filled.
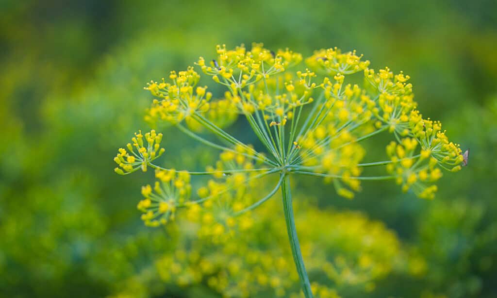
[[[373,292],[342,295],[497,297],[496,11],[494,0],[0,1],[0,297],[219,296],[161,282],[154,264],[174,242],[136,210],[152,173],[118,176],[112,158],[147,129],[147,81],[254,41],[304,56],[356,49],[404,71],[423,116],[471,148],[434,201],[386,182],[352,201],[298,182],[314,205],[383,222],[424,260],[423,274],[394,270]],[[190,140],[164,133],[195,162]],[[373,156],[386,144],[371,143]]]

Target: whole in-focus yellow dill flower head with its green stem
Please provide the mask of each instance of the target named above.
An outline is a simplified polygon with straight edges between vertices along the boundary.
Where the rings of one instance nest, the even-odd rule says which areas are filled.
[[[417,110],[410,76],[389,68],[376,72],[355,51],[323,49],[303,59],[289,49],[274,52],[258,43],[250,50],[222,45],[195,65],[224,90],[212,94],[207,85],[198,85],[200,74],[193,67],[171,72],[167,80],[151,81],[145,87],[155,97],[146,120],[153,126],[175,126],[201,144],[219,149],[220,159],[205,171],[162,168],[153,163],[164,152],[159,145],[162,135],[146,134],[145,147],[140,132],[133,145],[128,144],[130,152],[119,149],[116,172],[146,171],[148,166],[158,170],[159,184],[154,192],[146,186],[145,199],[138,205],[146,224],[166,224],[181,209],[201,224],[198,236],[219,243],[237,229],[251,227],[251,211],[281,189],[292,254],[306,297],[312,297],[313,291],[298,245],[290,176],[323,177],[333,183],[337,195],[348,199],[361,190],[362,180],[394,180],[403,191],[432,199],[441,170],[458,171],[467,163],[440,122],[423,118]],[[361,74],[362,86],[349,82]],[[239,116],[247,120],[263,152],[223,129]],[[218,141],[207,140],[205,133]],[[361,142],[381,133],[393,135],[386,150],[389,159],[363,162],[367,149]],[[363,176],[365,167],[382,167],[388,175]],[[247,195],[260,181],[276,176],[272,174],[279,177],[266,195]],[[211,178],[190,191],[190,175]]]

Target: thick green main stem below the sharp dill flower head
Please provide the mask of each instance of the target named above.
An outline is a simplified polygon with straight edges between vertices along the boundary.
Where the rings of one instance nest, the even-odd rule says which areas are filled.
[[[290,191],[290,176],[285,175],[281,184],[281,194],[283,196],[283,211],[285,213],[286,229],[288,231],[288,239],[292,248],[293,261],[297,267],[297,273],[300,278],[300,286],[306,298],[312,298],[311,283],[307,276],[304,259],[300,251],[299,238],[297,237],[297,229],[295,227],[295,219],[293,216],[292,194]]]

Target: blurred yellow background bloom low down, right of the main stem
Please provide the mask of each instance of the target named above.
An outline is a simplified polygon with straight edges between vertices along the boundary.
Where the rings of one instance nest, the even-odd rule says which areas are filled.
[[[400,243],[395,233],[387,230],[384,224],[371,222],[357,212],[331,213],[310,209],[306,218],[312,223],[306,228],[305,219],[296,219],[299,229],[306,231],[307,239],[313,241],[303,253],[312,256],[309,270],[323,270],[324,275],[337,284],[362,284],[365,287],[372,279],[384,277],[393,270],[394,259],[400,251]],[[323,230],[311,228],[335,223],[325,236]],[[302,227],[301,227],[302,226]],[[327,255],[320,247],[334,247],[338,250],[361,251],[357,255],[336,253]]]

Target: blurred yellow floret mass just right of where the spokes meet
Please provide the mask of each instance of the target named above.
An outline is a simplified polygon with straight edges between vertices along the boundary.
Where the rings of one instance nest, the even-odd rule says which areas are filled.
[[[354,177],[361,174],[358,164],[365,156],[365,149],[357,139],[375,131],[370,119],[376,102],[358,85],[343,85],[343,80],[341,74],[336,74],[333,81],[325,79],[322,84],[325,101],[315,118],[318,125],[311,126],[297,139],[296,145],[303,165],[326,173],[337,193],[351,199],[353,191],[360,190],[360,181]]]

